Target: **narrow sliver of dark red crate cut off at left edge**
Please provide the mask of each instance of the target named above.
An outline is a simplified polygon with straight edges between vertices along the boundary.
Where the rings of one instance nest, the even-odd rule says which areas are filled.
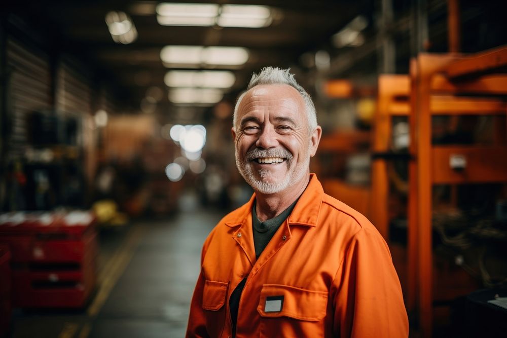
[[[0,244],[0,337],[6,336],[11,320],[11,253]]]

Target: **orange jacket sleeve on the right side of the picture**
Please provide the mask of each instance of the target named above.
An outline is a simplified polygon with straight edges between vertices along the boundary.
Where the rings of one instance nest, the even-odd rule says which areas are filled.
[[[408,337],[400,280],[376,229],[363,228],[352,237],[334,284],[335,336]]]

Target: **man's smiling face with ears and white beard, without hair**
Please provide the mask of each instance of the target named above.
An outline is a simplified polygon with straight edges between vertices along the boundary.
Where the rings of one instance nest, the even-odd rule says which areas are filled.
[[[310,133],[305,103],[287,85],[260,85],[243,97],[233,129],[236,165],[254,190],[274,194],[307,179],[320,127]]]

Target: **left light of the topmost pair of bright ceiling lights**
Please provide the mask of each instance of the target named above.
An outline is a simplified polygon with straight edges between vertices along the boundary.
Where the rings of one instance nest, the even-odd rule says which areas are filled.
[[[157,21],[164,26],[212,26],[219,14],[216,4],[159,4]]]

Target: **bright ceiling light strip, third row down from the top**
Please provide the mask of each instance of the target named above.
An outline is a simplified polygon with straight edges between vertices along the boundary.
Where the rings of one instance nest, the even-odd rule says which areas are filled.
[[[168,87],[231,88],[236,81],[232,71],[171,70],[165,74]]]

